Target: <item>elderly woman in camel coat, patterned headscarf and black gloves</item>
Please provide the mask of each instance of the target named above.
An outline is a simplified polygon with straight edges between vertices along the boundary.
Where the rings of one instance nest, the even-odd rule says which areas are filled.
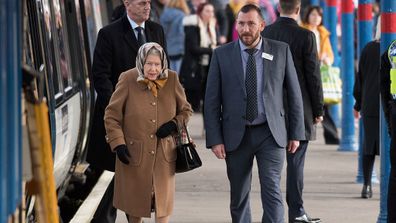
[[[116,152],[114,206],[129,221],[155,210],[166,223],[173,210],[176,150],[172,133],[192,114],[157,43],[140,47],[136,67],[120,75],[105,112],[107,141]]]

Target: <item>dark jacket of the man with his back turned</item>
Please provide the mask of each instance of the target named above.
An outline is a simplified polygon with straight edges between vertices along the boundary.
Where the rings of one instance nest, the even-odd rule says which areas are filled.
[[[305,137],[316,139],[314,119],[323,116],[323,89],[315,34],[300,27],[294,19],[280,17],[265,27],[262,35],[289,44],[303,99]]]

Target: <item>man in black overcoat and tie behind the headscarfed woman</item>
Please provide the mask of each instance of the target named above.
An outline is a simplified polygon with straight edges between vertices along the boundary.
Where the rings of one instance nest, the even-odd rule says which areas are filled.
[[[127,15],[99,31],[92,65],[92,79],[97,93],[87,161],[92,168],[114,171],[115,154],[106,142],[104,110],[117,84],[119,75],[135,67],[136,55],[144,42],[157,42],[166,47],[162,27],[147,21],[149,0],[124,0]],[[92,222],[115,222],[113,207],[114,181],[107,188]]]

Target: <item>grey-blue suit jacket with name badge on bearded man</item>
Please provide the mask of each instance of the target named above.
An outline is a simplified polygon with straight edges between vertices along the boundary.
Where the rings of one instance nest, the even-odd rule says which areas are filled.
[[[288,140],[304,140],[301,90],[289,46],[263,38],[263,50],[273,59],[263,58],[264,106],[276,143],[286,147]],[[210,63],[206,97],[206,146],[224,144],[235,150],[246,125],[246,90],[239,41],[217,48]],[[289,104],[288,130],[284,100]]]

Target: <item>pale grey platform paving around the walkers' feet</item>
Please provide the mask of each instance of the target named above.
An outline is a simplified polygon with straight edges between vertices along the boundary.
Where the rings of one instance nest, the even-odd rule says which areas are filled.
[[[205,148],[202,116],[195,114],[189,123],[190,134],[198,147],[203,166],[177,174],[176,197],[172,223],[229,223],[229,186],[224,160],[218,160]],[[305,162],[304,206],[312,217],[326,223],[373,223],[379,214],[379,184],[373,185],[373,198],[360,198],[361,184],[355,183],[357,152],[339,152],[337,146],[325,145],[323,131],[318,127],[318,140],[310,143]],[[285,169],[282,192],[285,195]],[[379,175],[379,157],[376,158]],[[287,204],[285,202],[285,219]],[[262,208],[257,168],[254,165],[251,209],[253,222],[261,222]],[[127,222],[118,212],[117,223]],[[154,223],[154,216],[145,219]]]

